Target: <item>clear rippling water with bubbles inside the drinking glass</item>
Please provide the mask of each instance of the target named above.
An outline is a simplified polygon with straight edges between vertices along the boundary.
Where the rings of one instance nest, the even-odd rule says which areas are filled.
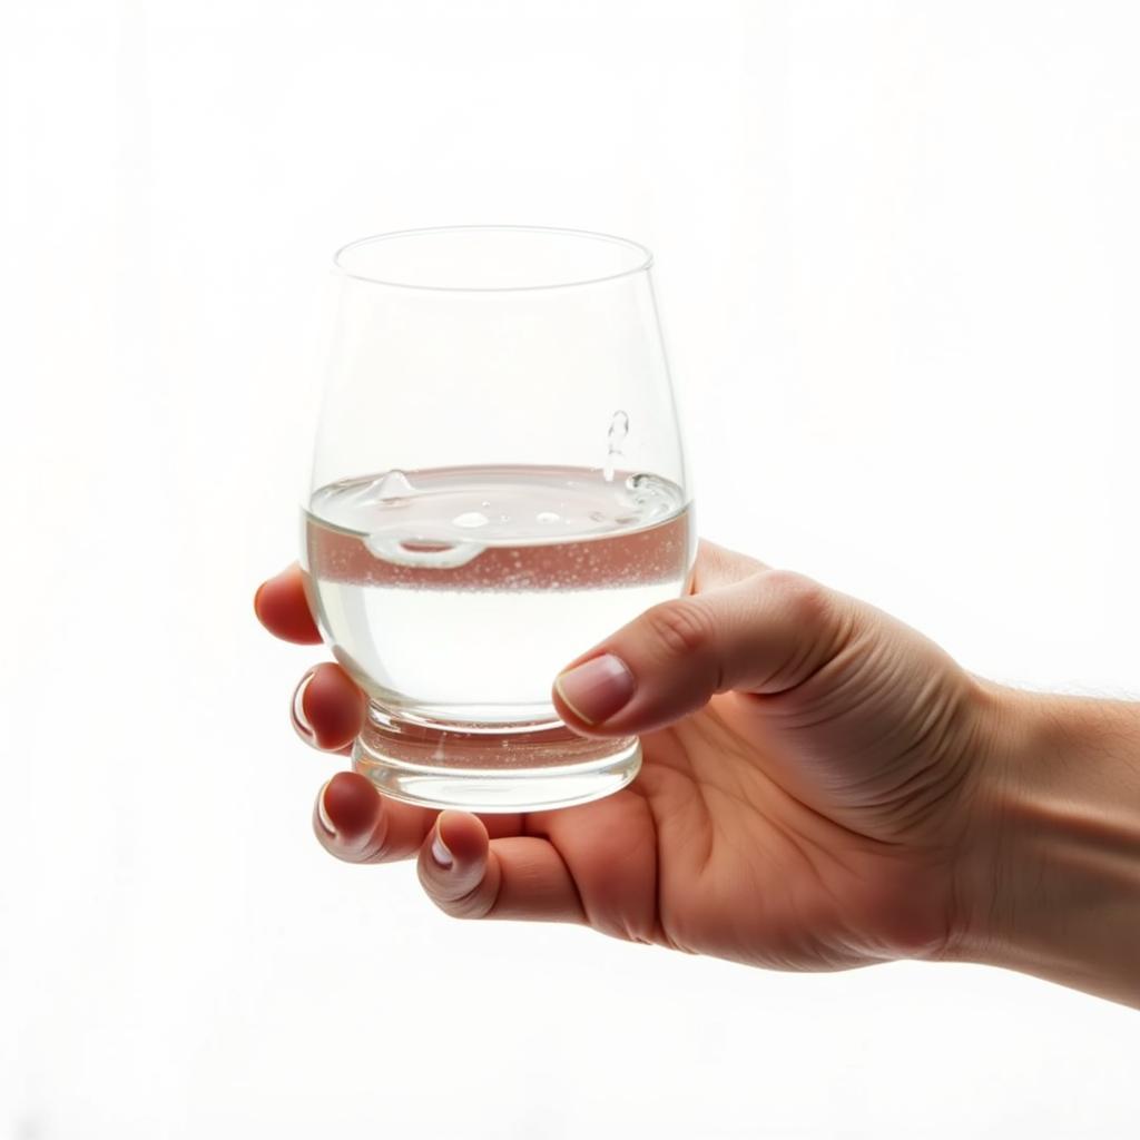
[[[683,594],[695,546],[675,483],[577,467],[345,480],[304,524],[334,656],[382,706],[437,725],[556,723],[559,670]]]

